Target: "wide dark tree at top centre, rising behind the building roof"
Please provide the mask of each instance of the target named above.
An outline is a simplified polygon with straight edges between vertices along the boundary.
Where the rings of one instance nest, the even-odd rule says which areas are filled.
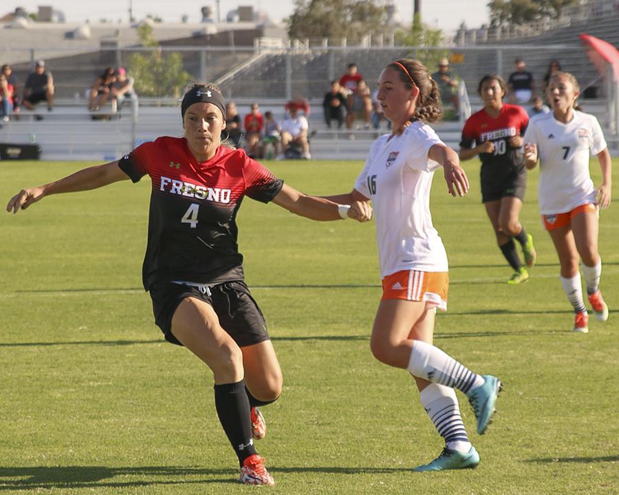
[[[290,39],[347,38],[383,32],[387,11],[376,0],[295,0]]]

